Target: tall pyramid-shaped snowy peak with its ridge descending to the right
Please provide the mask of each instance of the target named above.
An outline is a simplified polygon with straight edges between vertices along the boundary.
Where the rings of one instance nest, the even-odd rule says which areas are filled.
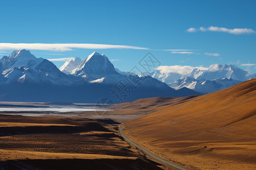
[[[67,68],[71,68],[69,71],[71,75],[74,75],[79,78],[83,78],[86,82],[89,83],[101,83],[101,84],[116,84],[119,81],[125,84],[130,84],[129,77],[133,76],[133,79],[143,80],[141,86],[151,86],[155,88],[166,89],[167,84],[160,82],[151,76],[141,76],[135,75],[134,73],[120,71],[115,69],[113,64],[109,61],[108,57],[104,54],[93,52],[87,58],[82,59],[80,62],[77,62],[77,66],[74,62],[67,61],[61,66],[63,71],[67,71]]]

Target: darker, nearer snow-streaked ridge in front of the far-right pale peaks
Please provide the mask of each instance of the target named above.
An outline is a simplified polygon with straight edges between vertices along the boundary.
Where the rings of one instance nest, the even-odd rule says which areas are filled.
[[[186,78],[179,79],[174,83],[168,85],[176,90],[187,87],[191,90],[199,92],[200,94],[209,94],[211,92],[223,90],[241,83],[240,80],[232,78],[215,79],[215,80],[198,80],[187,76]]]

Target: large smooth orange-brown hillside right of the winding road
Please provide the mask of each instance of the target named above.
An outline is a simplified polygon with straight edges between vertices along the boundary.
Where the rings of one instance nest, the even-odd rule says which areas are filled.
[[[130,120],[124,133],[191,168],[256,169],[256,79]]]

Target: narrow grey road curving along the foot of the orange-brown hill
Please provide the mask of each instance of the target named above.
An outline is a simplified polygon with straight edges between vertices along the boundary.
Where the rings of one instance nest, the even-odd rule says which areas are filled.
[[[174,168],[177,168],[177,169],[180,169],[180,170],[187,170],[183,167],[180,167],[179,165],[176,165],[174,163],[171,163],[169,162],[168,160],[166,159],[163,159],[155,154],[152,154],[150,151],[146,150],[145,148],[141,147],[140,145],[138,145],[137,143],[131,141],[128,137],[126,137],[124,134],[123,134],[123,130],[122,130],[122,127],[120,125],[118,125],[118,128],[119,128],[119,133],[120,135],[123,137],[123,139],[125,139],[126,142],[130,143],[131,145],[137,147],[139,150],[142,150],[144,152],[144,154],[147,154],[148,156],[156,159],[156,160],[159,160],[160,162],[164,163],[164,164],[168,164],[170,165],[171,167],[174,167]]]

